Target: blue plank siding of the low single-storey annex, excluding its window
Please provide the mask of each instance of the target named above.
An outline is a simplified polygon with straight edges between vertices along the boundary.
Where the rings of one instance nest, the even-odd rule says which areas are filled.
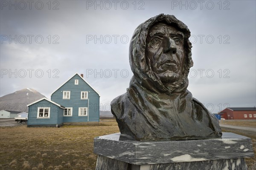
[[[50,107],[50,117],[37,118],[38,107]],[[63,112],[63,109],[47,100],[42,100],[35,104],[32,104],[29,106],[27,125],[56,125],[58,124],[58,122],[60,122],[58,121],[58,114],[60,110],[62,110]]]

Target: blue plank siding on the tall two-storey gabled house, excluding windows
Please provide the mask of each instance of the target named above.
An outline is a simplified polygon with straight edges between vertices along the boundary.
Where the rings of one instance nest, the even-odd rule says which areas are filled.
[[[79,80],[78,85],[75,85],[76,79]],[[63,91],[70,91],[70,99],[63,99]],[[88,100],[81,100],[81,91],[88,92],[89,104]],[[88,121],[87,116],[79,116],[79,107],[88,107],[89,121],[99,121],[99,95],[77,74],[57,89],[51,100],[64,107],[73,108],[72,116],[63,117],[64,123]]]

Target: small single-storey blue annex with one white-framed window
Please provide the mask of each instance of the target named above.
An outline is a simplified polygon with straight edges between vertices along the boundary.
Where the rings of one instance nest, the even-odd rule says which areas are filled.
[[[50,101],[47,98],[41,98],[31,104],[28,104],[29,114],[27,127],[60,127],[63,125],[63,112],[65,107]]]

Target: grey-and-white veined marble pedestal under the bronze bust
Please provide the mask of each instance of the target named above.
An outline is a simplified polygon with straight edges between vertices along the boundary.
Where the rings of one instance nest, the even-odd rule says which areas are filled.
[[[135,141],[114,133],[94,138],[96,170],[246,170],[253,157],[251,139],[234,133],[222,138]]]

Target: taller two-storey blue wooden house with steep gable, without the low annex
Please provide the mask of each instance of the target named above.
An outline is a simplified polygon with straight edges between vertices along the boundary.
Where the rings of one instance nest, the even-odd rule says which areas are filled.
[[[58,87],[51,100],[65,106],[63,122],[99,122],[99,93],[75,74]]]

